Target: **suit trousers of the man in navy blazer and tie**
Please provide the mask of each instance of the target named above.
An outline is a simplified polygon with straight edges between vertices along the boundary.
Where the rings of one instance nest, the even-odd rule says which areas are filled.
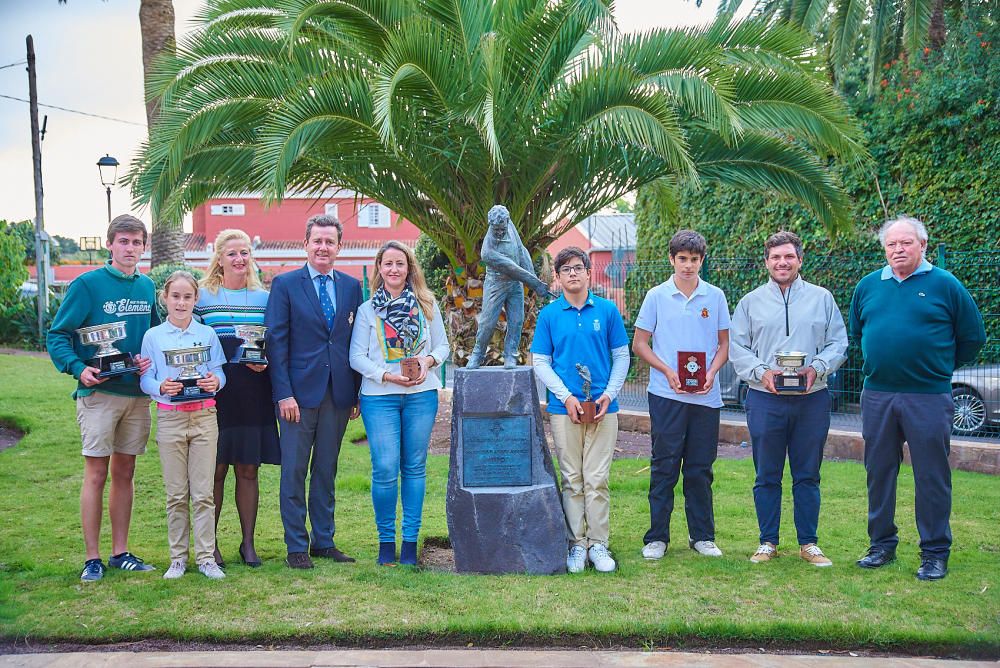
[[[336,525],[334,479],[340,442],[351,409],[336,408],[327,390],[316,408],[300,408],[300,421],[287,422],[279,416],[281,428],[281,523],[289,552],[305,552],[333,547]],[[306,473],[309,474],[308,513],[312,540],[306,531]]]

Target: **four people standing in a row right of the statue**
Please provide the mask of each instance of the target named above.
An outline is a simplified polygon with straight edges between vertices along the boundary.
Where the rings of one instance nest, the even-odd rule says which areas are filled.
[[[964,286],[926,259],[927,230],[900,217],[882,226],[886,266],[865,276],[850,305],[850,335],[864,356],[862,436],[868,485],[867,554],[862,568],[895,559],[896,480],[909,446],[916,487],[921,564],[917,577],[948,572],[951,549],[952,372],[972,362],[986,341],[983,319]],[[779,556],[782,478],[792,477],[798,555],[831,566],[819,547],[820,465],[830,427],[827,379],[846,359],[848,327],[833,295],[802,279],[802,242],[778,232],[764,244],[769,278],[730,316],[723,292],[702,280],[708,253],[697,232],[670,240],[673,275],[646,293],[635,320],[632,351],[650,367],[652,437],[649,530],[642,556],[663,558],[670,543],[674,488],[683,477],[688,546],[721,557],[715,542],[712,466],[722,398],[715,382],[731,361],[748,386],[747,427],[756,478],[759,547],[755,564]],[[534,367],[547,387],[548,412],[562,478],[569,549],[567,570],[616,567],[608,549],[608,474],[617,441],[615,402],[628,373],[628,338],[614,304],[589,290],[590,260],[578,248],[555,259],[562,296],[542,309],[531,344]],[[804,353],[785,378],[777,353]],[[578,372],[590,370],[597,418],[584,422],[586,391]],[[692,380],[696,383],[692,387]],[[794,391],[789,391],[794,390]]]

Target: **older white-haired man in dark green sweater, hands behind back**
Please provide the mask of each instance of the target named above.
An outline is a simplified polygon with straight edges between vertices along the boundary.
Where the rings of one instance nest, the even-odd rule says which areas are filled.
[[[986,331],[969,291],[927,261],[923,223],[890,220],[879,241],[888,265],[861,279],[850,313],[851,336],[861,340],[865,358],[861,429],[871,541],[858,566],[879,568],[896,558],[896,478],[906,441],[920,533],[917,577],[940,580],[951,551],[951,376],[975,360]]]

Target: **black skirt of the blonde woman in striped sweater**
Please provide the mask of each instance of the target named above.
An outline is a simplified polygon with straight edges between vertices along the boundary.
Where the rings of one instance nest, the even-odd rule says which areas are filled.
[[[226,359],[242,341],[221,337]],[[215,397],[219,420],[217,464],[281,464],[278,423],[267,371],[257,373],[243,364],[226,364],[226,386]]]

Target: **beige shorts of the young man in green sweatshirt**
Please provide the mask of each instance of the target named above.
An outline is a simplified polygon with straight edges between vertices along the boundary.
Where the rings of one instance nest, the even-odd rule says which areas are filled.
[[[141,455],[149,440],[149,397],[91,392],[76,400],[84,457]]]

